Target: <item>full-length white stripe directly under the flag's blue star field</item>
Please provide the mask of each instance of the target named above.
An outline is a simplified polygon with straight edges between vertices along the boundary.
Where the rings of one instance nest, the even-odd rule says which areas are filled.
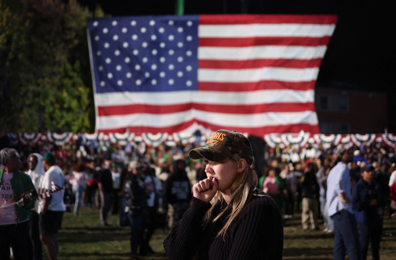
[[[176,105],[205,103],[219,105],[252,105],[269,103],[312,103],[314,90],[255,90],[249,92],[224,91],[170,91],[170,92],[112,92],[97,93],[98,106],[130,104]]]

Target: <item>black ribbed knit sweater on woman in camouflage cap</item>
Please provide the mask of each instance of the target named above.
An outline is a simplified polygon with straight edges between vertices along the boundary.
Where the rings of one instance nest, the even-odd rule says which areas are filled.
[[[215,224],[203,221],[210,206],[193,198],[190,209],[164,240],[169,260],[191,260],[198,249],[200,260],[282,259],[282,217],[271,197],[252,196],[234,219],[225,240],[215,238],[225,217]],[[217,205],[213,215],[222,207],[225,204]]]

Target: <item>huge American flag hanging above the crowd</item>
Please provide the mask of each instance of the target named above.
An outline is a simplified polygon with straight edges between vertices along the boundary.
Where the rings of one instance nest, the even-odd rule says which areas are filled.
[[[97,132],[319,133],[333,15],[88,19]]]

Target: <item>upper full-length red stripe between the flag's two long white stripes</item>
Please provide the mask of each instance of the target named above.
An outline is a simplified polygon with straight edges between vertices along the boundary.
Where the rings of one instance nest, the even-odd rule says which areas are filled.
[[[137,113],[148,114],[169,114],[187,111],[190,109],[197,109],[202,111],[214,113],[227,114],[254,114],[265,112],[301,112],[301,111],[315,111],[313,103],[268,103],[268,104],[254,104],[254,105],[213,105],[213,104],[179,104],[168,106],[154,106],[154,105],[125,105],[125,106],[106,106],[98,107],[99,116],[111,115],[132,115]]]

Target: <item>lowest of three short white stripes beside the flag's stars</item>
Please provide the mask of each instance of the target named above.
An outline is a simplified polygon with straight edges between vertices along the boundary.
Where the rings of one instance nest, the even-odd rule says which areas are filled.
[[[318,77],[319,68],[278,68],[264,67],[243,70],[198,69],[200,82],[259,82],[276,80],[284,82],[313,81]]]

